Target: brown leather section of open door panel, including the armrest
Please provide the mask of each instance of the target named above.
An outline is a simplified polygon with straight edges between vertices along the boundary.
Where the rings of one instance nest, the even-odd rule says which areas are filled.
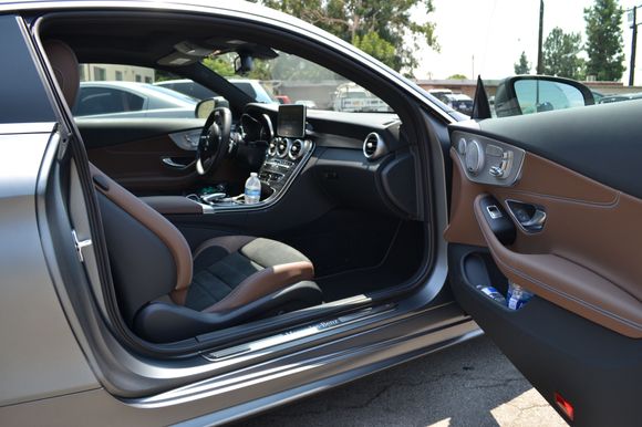
[[[631,337],[642,337],[642,200],[527,153],[512,187],[472,183],[455,149],[453,209],[445,238],[487,246],[501,271],[538,295]],[[480,195],[542,206],[541,232],[517,228],[510,248],[497,240],[479,209]]]

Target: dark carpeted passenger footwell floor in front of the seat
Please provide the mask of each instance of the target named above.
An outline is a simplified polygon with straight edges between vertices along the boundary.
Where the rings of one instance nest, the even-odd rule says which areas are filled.
[[[411,279],[424,257],[425,227],[373,211],[336,209],[275,239],[310,258],[314,281],[330,302]]]

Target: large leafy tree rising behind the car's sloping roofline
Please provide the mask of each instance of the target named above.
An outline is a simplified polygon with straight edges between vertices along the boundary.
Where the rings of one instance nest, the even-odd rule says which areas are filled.
[[[435,23],[415,22],[411,12],[434,11],[433,0],[253,0],[310,22],[350,42],[396,71],[408,74],[421,40],[438,51]],[[408,43],[408,39],[412,40]]]

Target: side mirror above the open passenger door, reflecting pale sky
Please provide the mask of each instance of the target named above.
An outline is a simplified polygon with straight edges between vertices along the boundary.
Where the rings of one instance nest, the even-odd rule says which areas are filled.
[[[495,93],[497,117],[574,108],[596,103],[591,90],[570,79],[518,75],[505,79]]]

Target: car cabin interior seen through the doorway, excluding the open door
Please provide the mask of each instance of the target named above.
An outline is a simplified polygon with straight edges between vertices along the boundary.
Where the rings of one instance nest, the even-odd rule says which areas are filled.
[[[75,121],[118,311],[137,336],[177,342],[328,304],[389,299],[416,282],[429,233],[416,140],[398,114],[253,102],[199,60],[215,51],[310,52],[230,22],[175,18],[159,28],[144,13],[77,22],[62,13],[40,30],[70,110],[80,63],[169,71],[229,103],[213,102],[207,119]],[[186,43],[198,53],[184,53]],[[255,205],[238,197],[250,171],[261,181]]]

